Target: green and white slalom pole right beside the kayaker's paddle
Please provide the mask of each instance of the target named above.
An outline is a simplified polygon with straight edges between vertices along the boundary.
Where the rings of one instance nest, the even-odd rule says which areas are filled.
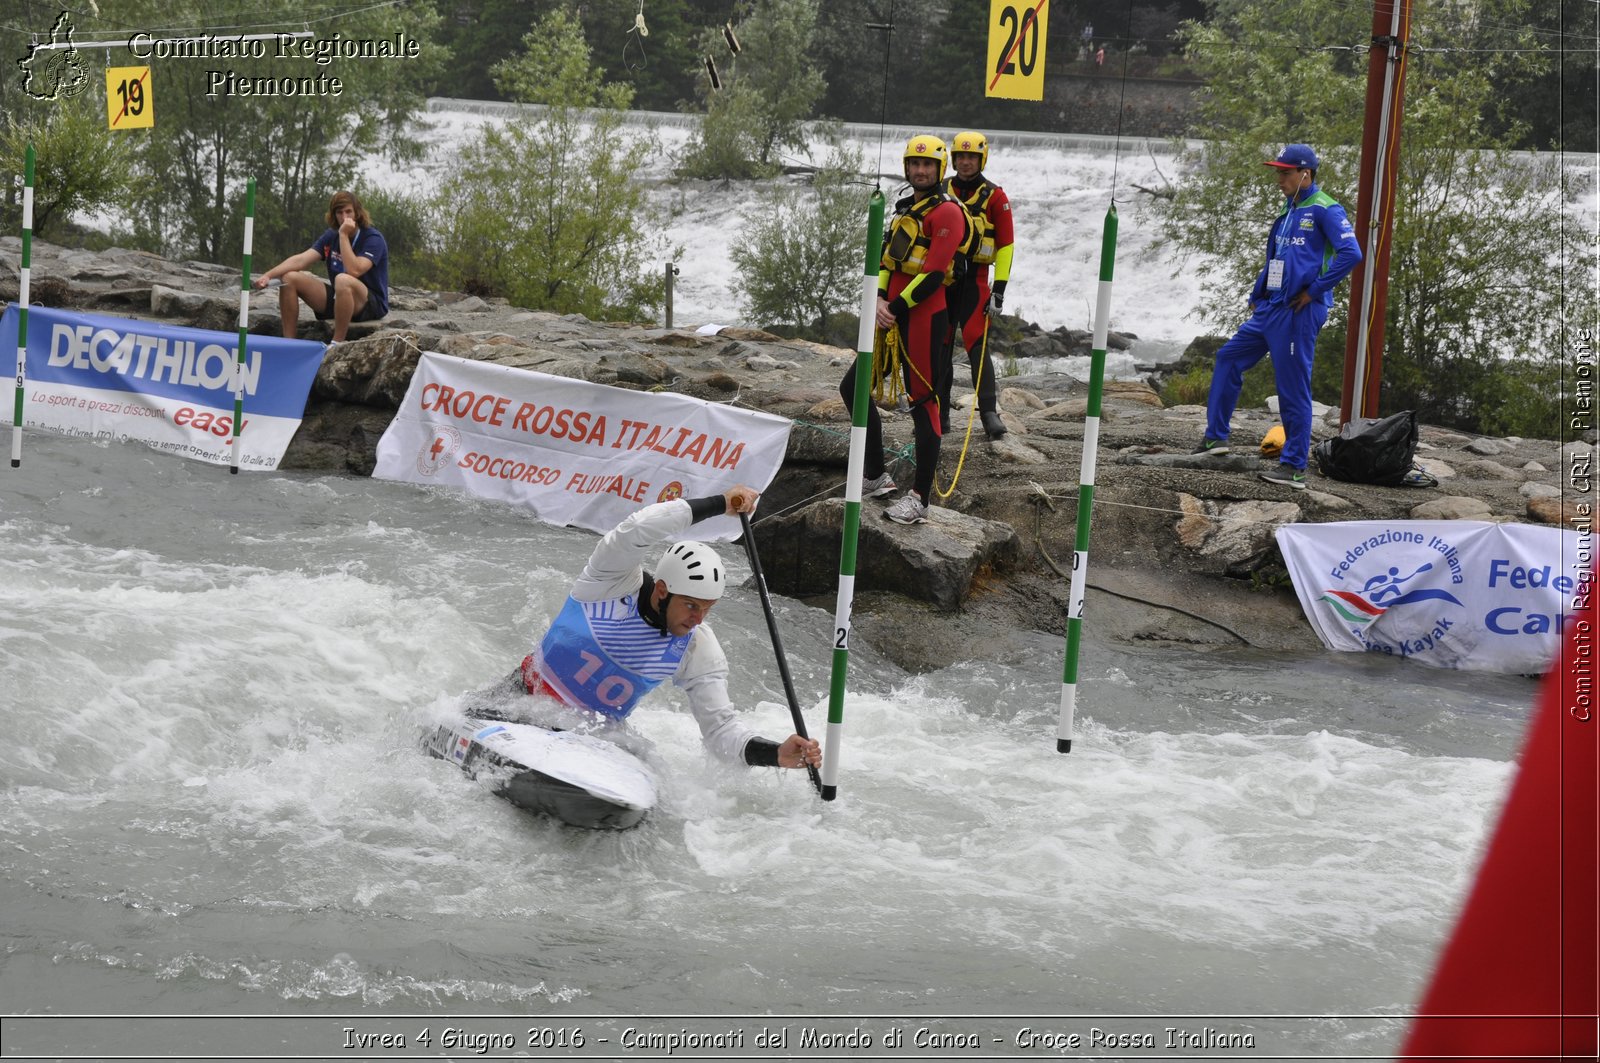
[[[856,543],[861,535],[861,475],[867,461],[867,403],[872,402],[872,341],[878,327],[878,258],[883,247],[883,192],[867,207],[867,266],[861,280],[861,327],[856,330],[856,397],[850,416],[850,461],[845,472],[845,530],[838,543],[838,602],[834,605],[834,680],[827,695],[822,746],[822,800],[838,796],[838,744],[845,733],[845,672],[850,668],[850,607],[856,597]]]

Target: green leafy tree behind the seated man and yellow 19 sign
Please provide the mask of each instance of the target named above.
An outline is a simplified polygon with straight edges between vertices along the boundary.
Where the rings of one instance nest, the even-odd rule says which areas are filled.
[[[224,29],[203,0],[104,0],[101,13],[122,27],[181,27],[162,37]],[[256,32],[307,26],[304,8],[286,0],[264,0],[250,18]],[[418,0],[315,21],[314,38],[293,48],[259,42],[261,58],[149,58],[155,128],[138,144],[150,183],[131,211],[162,234],[166,253],[237,261],[243,189],[253,176],[256,256],[304,250],[320,231],[330,194],[355,184],[365,157],[406,160],[421,152],[413,136],[421,85],[448,58],[434,43],[437,24],[430,0]],[[346,42],[397,35],[416,42],[416,58],[333,53]]]

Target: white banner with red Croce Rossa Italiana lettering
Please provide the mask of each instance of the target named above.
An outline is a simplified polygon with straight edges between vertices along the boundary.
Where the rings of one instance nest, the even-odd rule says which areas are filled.
[[[610,532],[643,504],[763,490],[789,447],[789,419],[686,395],[589,384],[432,351],[378,440],[373,475],[445,483]],[[733,540],[738,519],[696,536]]]

